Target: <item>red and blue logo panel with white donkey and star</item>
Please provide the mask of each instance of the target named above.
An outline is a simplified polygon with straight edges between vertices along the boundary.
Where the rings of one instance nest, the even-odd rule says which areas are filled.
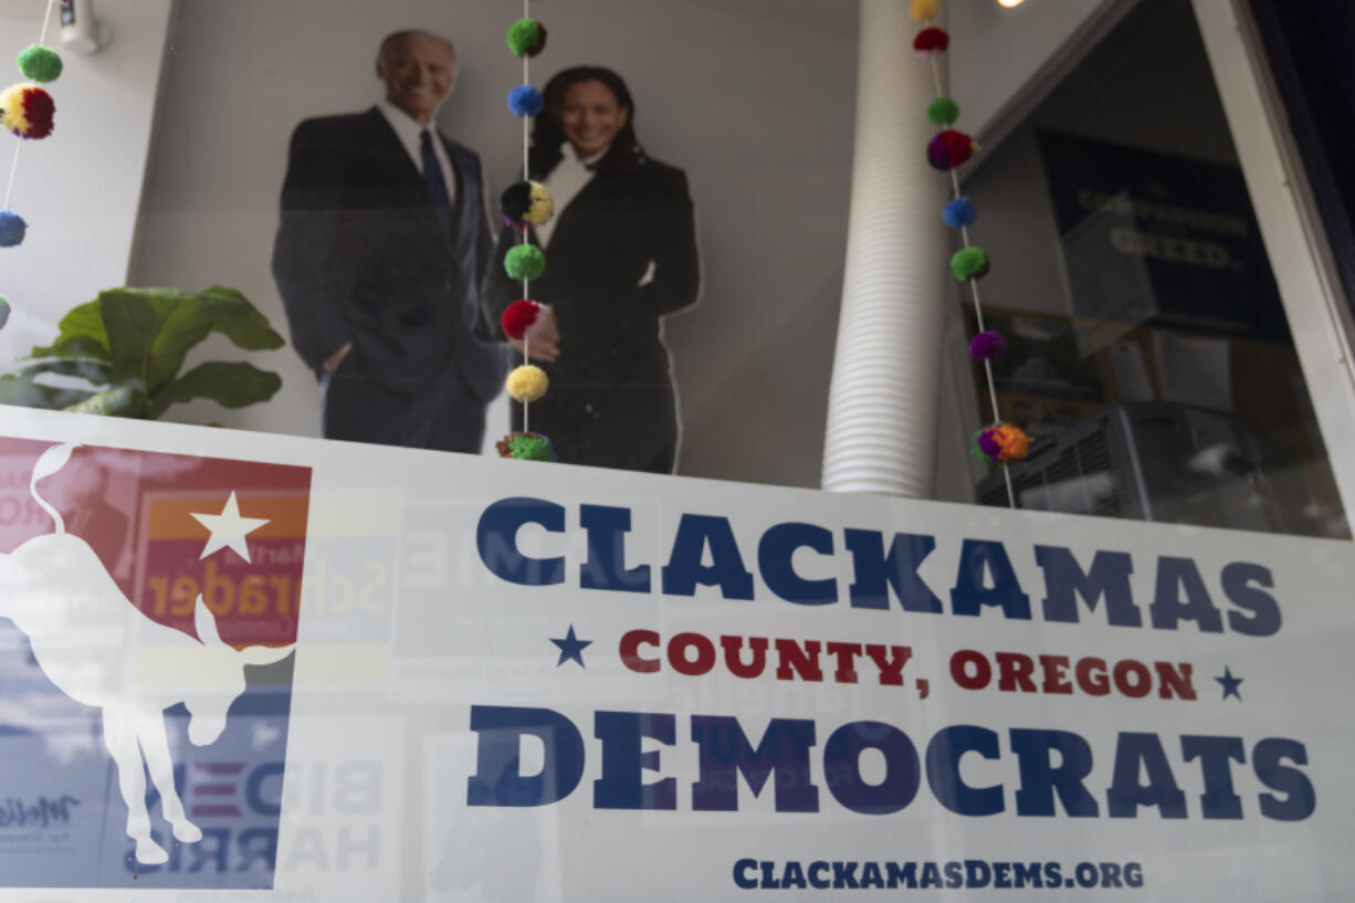
[[[272,887],[309,470],[14,438],[0,468],[4,883]]]

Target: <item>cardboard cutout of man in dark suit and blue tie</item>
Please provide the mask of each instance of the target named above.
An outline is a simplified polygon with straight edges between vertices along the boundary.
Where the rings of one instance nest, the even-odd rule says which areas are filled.
[[[480,313],[480,159],[432,121],[455,50],[398,31],[377,75],[383,102],[293,133],[274,277],[321,378],[327,438],[478,452],[507,358]]]

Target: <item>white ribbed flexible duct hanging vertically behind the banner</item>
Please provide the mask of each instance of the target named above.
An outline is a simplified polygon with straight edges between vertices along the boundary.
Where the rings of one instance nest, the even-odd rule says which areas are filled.
[[[946,176],[927,164],[931,68],[906,0],[860,0],[847,271],[822,487],[932,494],[948,245]]]

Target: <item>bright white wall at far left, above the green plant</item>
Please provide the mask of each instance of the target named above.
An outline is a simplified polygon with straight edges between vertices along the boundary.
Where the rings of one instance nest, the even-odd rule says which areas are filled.
[[[38,39],[47,8],[46,0],[0,0],[8,60]],[[169,9],[171,0],[95,3],[111,41],[83,56],[61,46],[51,5],[47,45],[65,66],[46,85],[57,104],[51,136],[19,148],[9,206],[28,233],[23,244],[0,249],[0,296],[12,308],[0,329],[0,361],[27,355],[56,335],[66,310],[126,282]],[[16,144],[0,134],[0,191]]]

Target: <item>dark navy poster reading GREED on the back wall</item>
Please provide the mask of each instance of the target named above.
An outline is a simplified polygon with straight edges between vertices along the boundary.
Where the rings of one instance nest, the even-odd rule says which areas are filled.
[[[1075,316],[1289,342],[1241,168],[1038,140]]]

